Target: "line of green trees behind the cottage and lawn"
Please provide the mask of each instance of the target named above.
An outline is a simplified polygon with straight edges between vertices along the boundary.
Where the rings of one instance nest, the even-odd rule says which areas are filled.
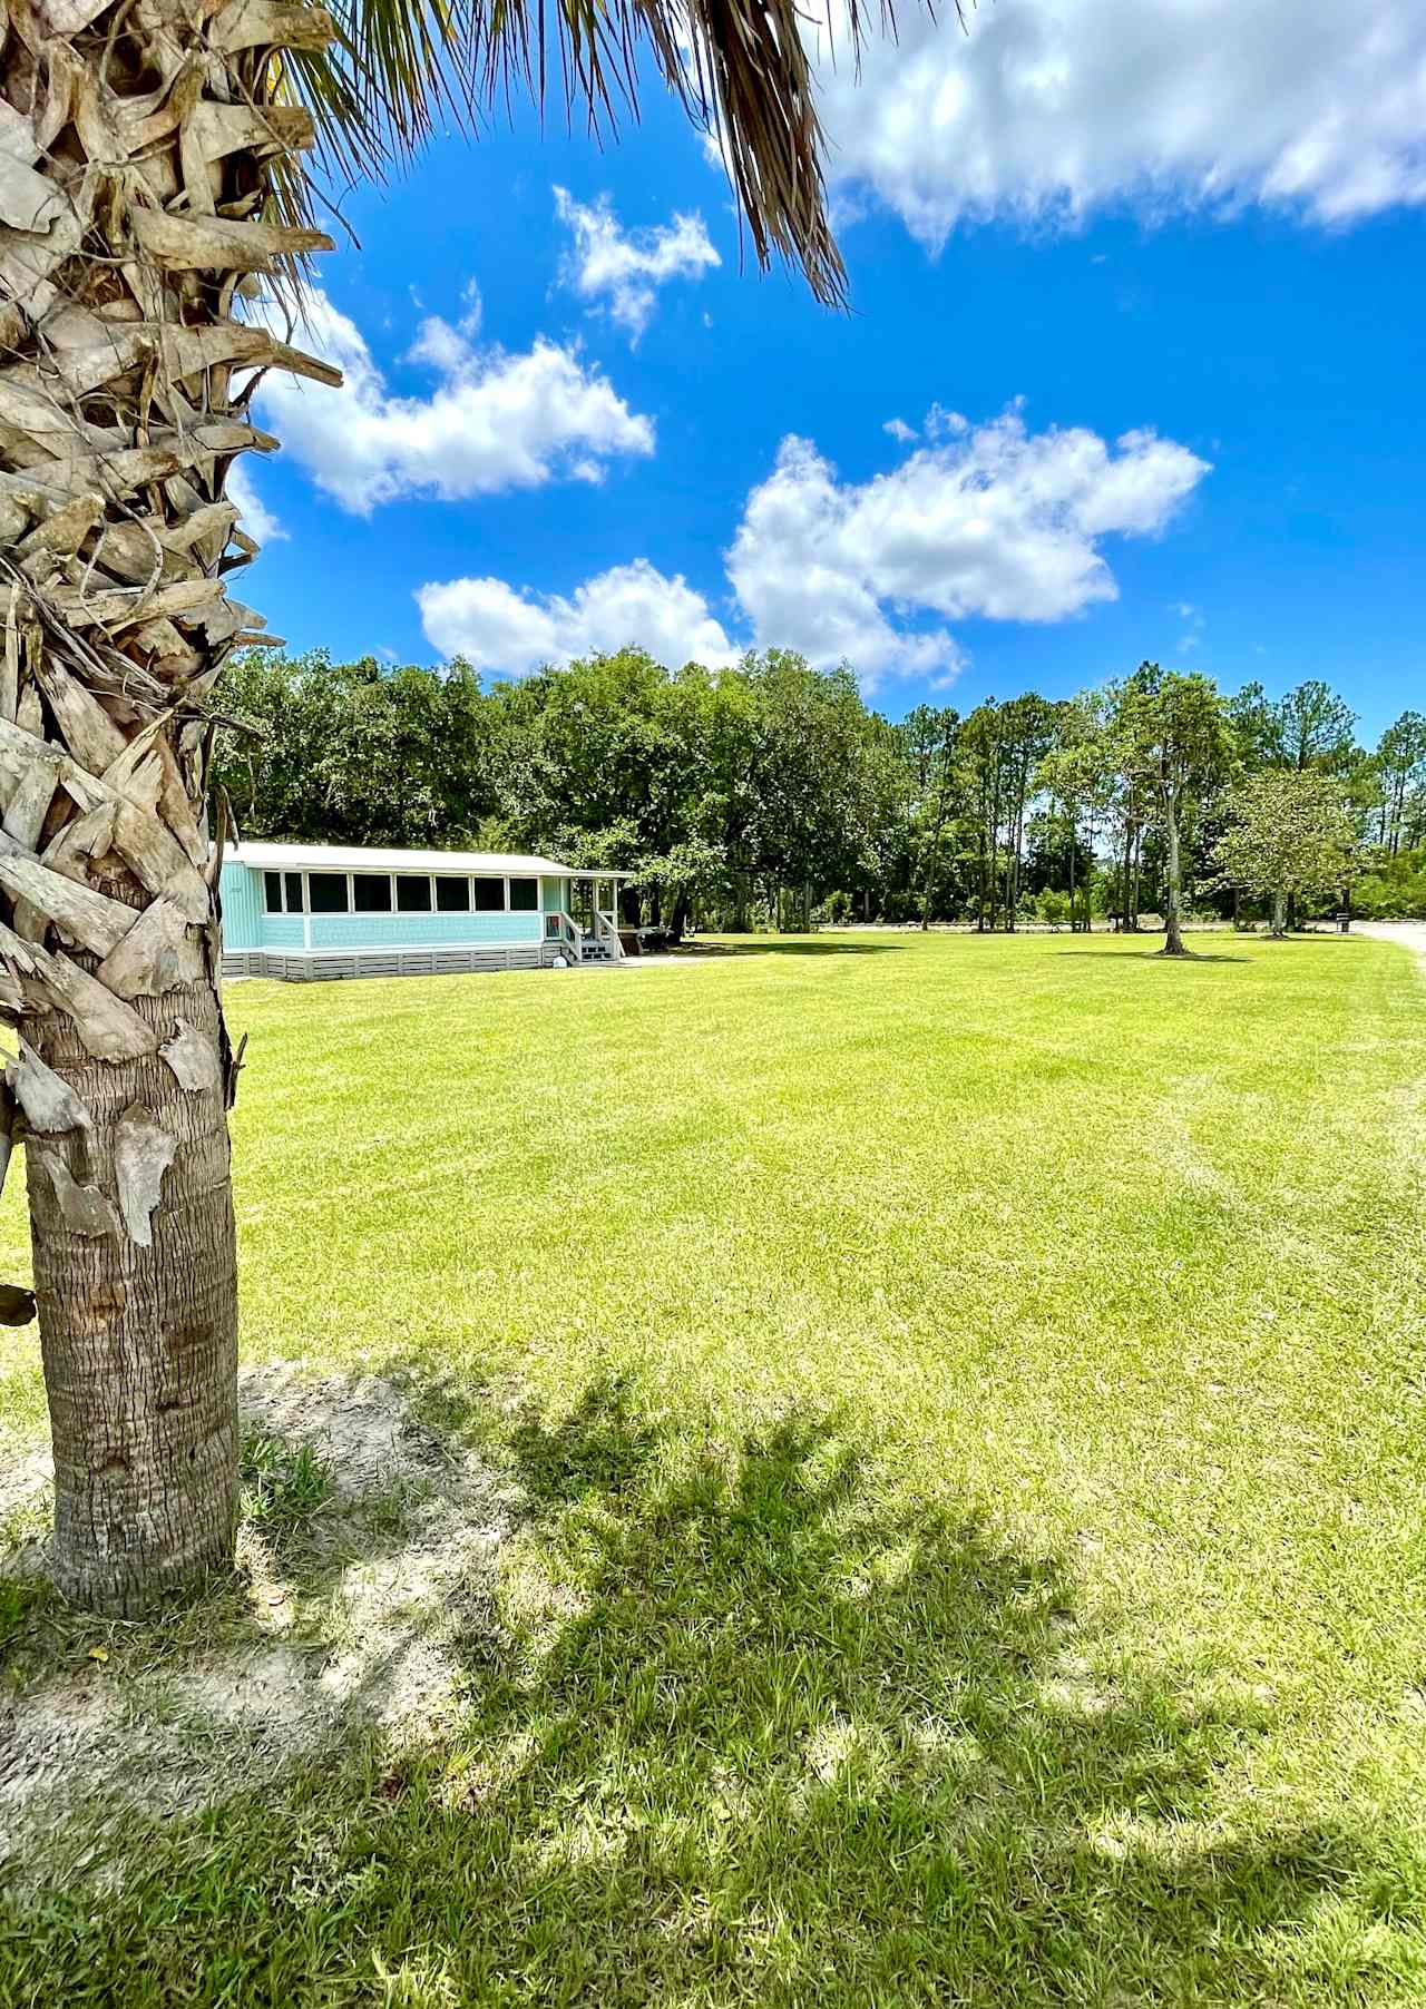
[[[1269,699],[1141,663],[890,721],[785,649],[667,669],[641,649],[482,687],[464,665],[249,653],[217,757],[249,838],[522,850],[633,874],[681,934],[823,918],[1285,928],[1426,914],[1426,715],[1376,747],[1305,681]]]

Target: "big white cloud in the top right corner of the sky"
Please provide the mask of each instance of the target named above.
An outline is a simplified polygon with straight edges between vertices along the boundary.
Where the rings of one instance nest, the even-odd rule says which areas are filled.
[[[1416,0],[1350,16],[1336,0],[1016,0],[966,22],[908,12],[860,82],[819,62],[844,201],[874,191],[934,247],[964,219],[1123,203],[1336,223],[1426,201]]]

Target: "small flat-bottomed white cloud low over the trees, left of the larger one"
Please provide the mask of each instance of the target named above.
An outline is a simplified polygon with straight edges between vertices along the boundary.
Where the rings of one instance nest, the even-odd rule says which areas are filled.
[[[647,559],[615,565],[558,593],[518,593],[504,579],[448,579],[420,587],[428,641],[474,669],[522,677],[542,663],[570,663],[635,643],[661,663],[733,663],[737,651],[701,593]]]

